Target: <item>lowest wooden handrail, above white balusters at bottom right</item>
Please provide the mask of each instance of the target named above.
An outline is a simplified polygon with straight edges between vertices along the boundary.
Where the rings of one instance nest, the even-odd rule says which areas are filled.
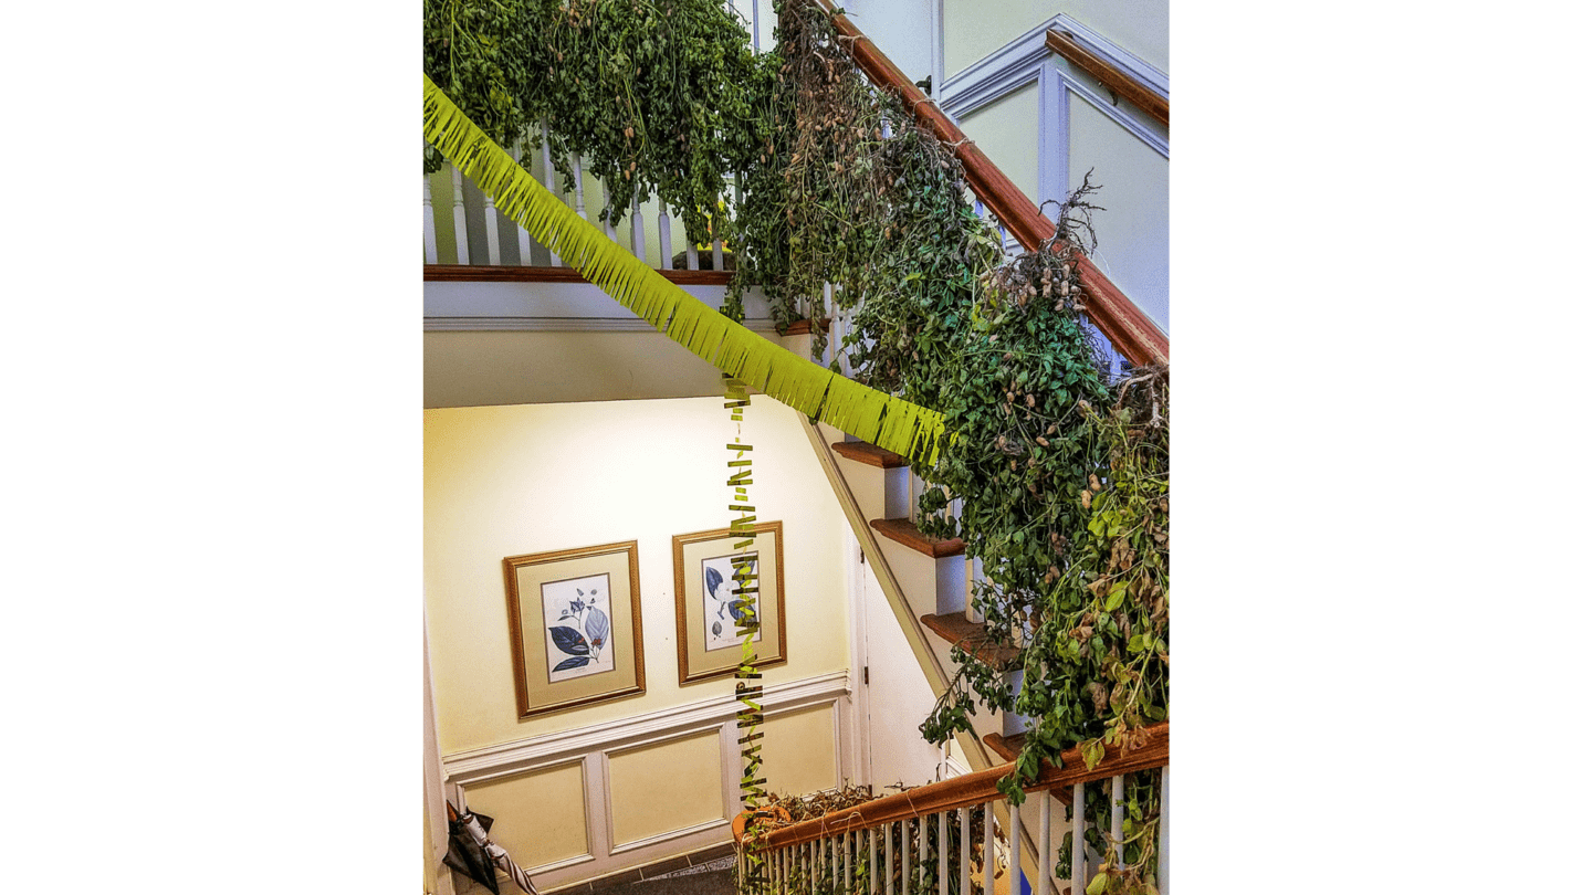
[[[1078,748],[1068,748],[1062,753],[1062,768],[1046,764],[1040,771],[1040,779],[1033,785],[1024,787],[1024,790],[1030,793],[1057,790],[1071,787],[1073,784],[1087,784],[1091,780],[1116,777],[1118,774],[1165,766],[1172,755],[1170,721],[1145,728],[1145,733],[1149,734],[1149,741],[1132,752],[1126,752],[1119,745],[1108,745],[1105,758],[1094,769],[1084,768],[1083,753]],[[998,798],[1000,790],[995,788],[995,782],[1009,774],[1011,768],[1011,764],[1001,764],[1000,768],[963,774],[853,807],[831,811],[823,817],[774,830],[764,839],[764,847],[782,849],[785,846],[799,846],[812,839],[837,836],[849,830],[871,830],[909,817],[923,817],[984,804]]]

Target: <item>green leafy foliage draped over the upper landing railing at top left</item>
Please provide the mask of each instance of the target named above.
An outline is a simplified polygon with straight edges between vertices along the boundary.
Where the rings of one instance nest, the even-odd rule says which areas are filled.
[[[726,228],[734,175],[771,135],[777,61],[721,0],[425,0],[423,70],[498,145],[570,154],[610,190],[618,225],[657,194],[686,237]],[[436,169],[428,154],[427,170]]]

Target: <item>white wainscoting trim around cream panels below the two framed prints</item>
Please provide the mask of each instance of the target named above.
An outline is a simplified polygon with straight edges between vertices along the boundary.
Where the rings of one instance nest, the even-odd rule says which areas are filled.
[[[736,712],[740,709],[740,702],[732,693],[734,682],[724,678],[723,683],[724,693],[721,696],[688,702],[675,709],[444,755],[446,788],[454,804],[468,804],[471,787],[559,766],[581,766],[587,852],[541,866],[527,866],[533,882],[543,890],[646,866],[728,842],[729,820],[740,811],[740,747],[736,742],[739,739]],[[763,691],[763,717],[767,721],[815,707],[829,709],[836,733],[834,744],[831,744],[837,772],[834,785],[856,777],[850,748],[855,736],[850,696],[849,672],[845,670],[767,685]],[[608,785],[610,756],[616,752],[656,747],[704,733],[718,734],[723,817],[632,842],[616,842],[613,798]],[[498,817],[497,820],[503,823],[511,819]],[[519,855],[513,855],[513,852],[511,857],[519,860]],[[506,877],[501,881],[506,882]],[[513,889],[513,882],[506,882],[506,885]]]

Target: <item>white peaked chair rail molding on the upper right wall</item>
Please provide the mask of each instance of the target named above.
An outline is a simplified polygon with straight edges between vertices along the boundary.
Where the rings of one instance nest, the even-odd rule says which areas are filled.
[[[1065,59],[1057,57],[1055,53],[1044,46],[1044,35],[1051,29],[1070,32],[1076,38],[1076,43],[1084,49],[1094,53],[1100,59],[1105,59],[1129,75],[1134,75],[1161,99],[1172,99],[1172,78],[1167,73],[1111,43],[1078,19],[1073,19],[1065,13],[1057,13],[1054,18],[1025,30],[1006,46],[946,78],[939,107],[946,111],[946,115],[960,123],[960,119],[966,115],[984,108],[1013,91],[1041,80],[1041,75],[1046,70],[1054,70],[1059,73],[1060,86],[1067,92],[1078,94],[1079,99],[1098,108],[1106,118],[1116,121],[1127,129],[1127,132],[1134,134],[1148,147],[1161,153],[1162,158],[1170,159],[1172,137],[1164,127],[1161,127],[1161,123],[1135,108],[1132,104],[1113,104],[1110,91],[1102,88],[1100,83],[1095,81],[1087,72],[1071,62],[1067,62]],[[1065,108],[1065,96],[1062,99],[1062,107]],[[1057,123],[1048,119],[1048,111],[1041,100],[1041,143],[1048,131],[1065,134],[1065,131],[1055,131],[1057,124],[1065,126],[1065,121]],[[1046,164],[1043,145],[1040,162],[1041,167]],[[1052,196],[1044,197],[1049,199]]]

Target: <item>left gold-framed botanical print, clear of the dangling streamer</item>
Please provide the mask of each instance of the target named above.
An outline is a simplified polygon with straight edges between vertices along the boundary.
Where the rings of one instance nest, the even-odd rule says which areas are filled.
[[[646,693],[635,556],[624,541],[503,561],[521,718]]]

